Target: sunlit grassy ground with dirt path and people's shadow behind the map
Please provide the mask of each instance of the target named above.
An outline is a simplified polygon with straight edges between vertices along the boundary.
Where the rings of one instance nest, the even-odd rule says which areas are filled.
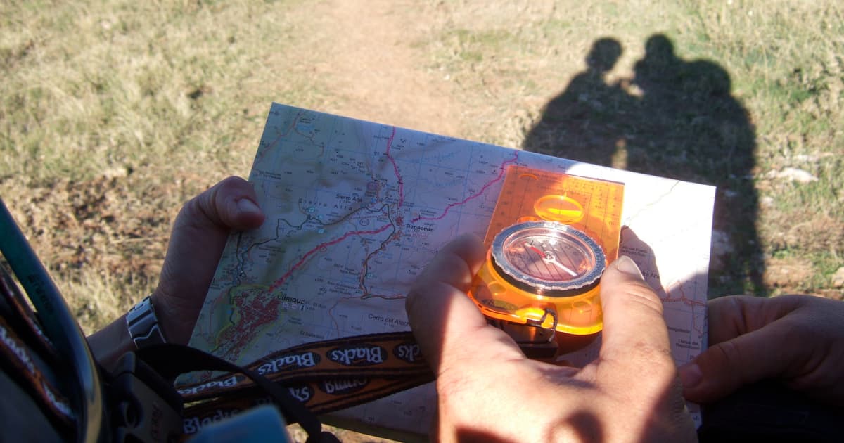
[[[711,296],[840,299],[842,57],[835,0],[11,0],[0,196],[90,332],[278,101],[717,185]]]

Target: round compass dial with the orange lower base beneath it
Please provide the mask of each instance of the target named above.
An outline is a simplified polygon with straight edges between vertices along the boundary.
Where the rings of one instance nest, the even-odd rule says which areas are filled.
[[[493,319],[589,335],[603,328],[598,284],[606,267],[603,248],[583,231],[526,221],[495,236],[468,295]]]

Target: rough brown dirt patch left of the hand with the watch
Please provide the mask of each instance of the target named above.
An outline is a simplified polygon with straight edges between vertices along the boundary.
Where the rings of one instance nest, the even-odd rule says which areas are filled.
[[[176,213],[160,207],[174,193],[170,187],[149,186],[125,172],[25,187],[10,180],[0,182],[20,229],[60,284],[72,310],[83,318],[100,317],[86,311],[109,304],[107,300],[111,305],[115,299],[119,305],[130,305],[158,280]],[[107,280],[112,289],[125,293],[97,294],[104,288],[84,283],[91,278]],[[97,323],[108,320],[98,318]]]

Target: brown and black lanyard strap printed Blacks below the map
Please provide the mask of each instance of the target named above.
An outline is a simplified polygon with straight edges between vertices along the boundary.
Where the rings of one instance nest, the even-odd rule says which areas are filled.
[[[386,332],[306,343],[246,365],[311,411],[329,413],[387,397],[434,380],[410,332]],[[246,376],[227,373],[179,386],[190,406],[182,413],[185,435],[242,410],[270,402]]]

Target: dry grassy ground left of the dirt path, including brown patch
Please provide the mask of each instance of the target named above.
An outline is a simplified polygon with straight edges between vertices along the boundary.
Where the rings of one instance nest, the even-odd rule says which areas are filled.
[[[279,51],[300,4],[0,6],[0,189],[86,330],[154,287],[181,202],[248,174],[271,101],[322,101]]]

